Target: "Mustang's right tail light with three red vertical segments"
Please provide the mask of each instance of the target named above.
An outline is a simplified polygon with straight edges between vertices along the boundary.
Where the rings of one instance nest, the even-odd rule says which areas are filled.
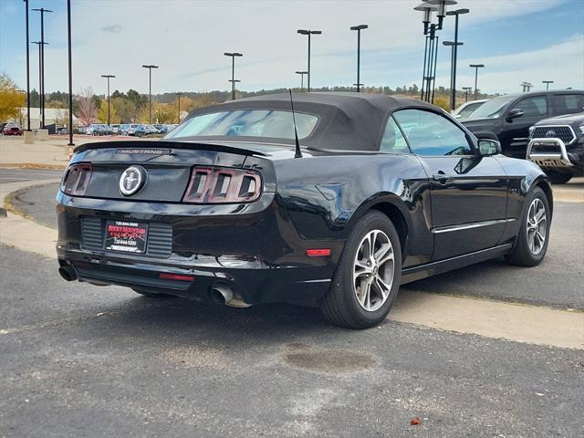
[[[257,172],[220,167],[193,167],[184,203],[252,203],[262,192]]]

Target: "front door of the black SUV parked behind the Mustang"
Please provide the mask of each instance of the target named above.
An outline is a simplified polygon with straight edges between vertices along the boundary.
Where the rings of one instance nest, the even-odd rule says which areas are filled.
[[[521,110],[522,116],[512,117],[511,111]],[[503,115],[502,143],[506,144],[505,154],[514,158],[526,158],[529,127],[546,119],[548,104],[546,95],[527,96],[509,105]]]

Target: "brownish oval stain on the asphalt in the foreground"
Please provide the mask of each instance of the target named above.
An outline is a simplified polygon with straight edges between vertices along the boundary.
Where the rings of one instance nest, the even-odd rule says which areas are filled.
[[[377,366],[377,360],[369,354],[344,349],[306,349],[293,345],[283,354],[283,361],[303,370],[349,373],[370,370]]]

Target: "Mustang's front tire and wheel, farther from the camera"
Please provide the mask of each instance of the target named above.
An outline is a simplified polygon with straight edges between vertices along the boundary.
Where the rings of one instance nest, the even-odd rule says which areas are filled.
[[[545,214],[537,219],[541,208]],[[546,193],[536,187],[526,198],[525,213],[521,217],[521,227],[513,252],[506,260],[516,266],[537,266],[546,256],[549,243],[551,210]],[[545,233],[545,234],[543,234]],[[543,243],[541,239],[543,238]]]

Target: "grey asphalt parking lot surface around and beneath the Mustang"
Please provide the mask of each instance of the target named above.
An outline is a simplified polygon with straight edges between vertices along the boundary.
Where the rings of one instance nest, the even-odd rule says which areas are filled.
[[[1,170],[0,183],[58,174]],[[26,189],[10,203],[54,228],[56,190]],[[402,287],[401,302],[415,314],[411,298],[422,291],[479,308],[493,303],[484,298],[569,308],[584,330],[583,218],[583,203],[555,204],[541,266],[471,266]],[[391,312],[377,328],[352,331],[329,327],[315,308],[151,299],[66,283],[47,256],[8,245],[0,253],[0,436],[584,432],[581,349],[477,336],[473,320],[454,332]]]

